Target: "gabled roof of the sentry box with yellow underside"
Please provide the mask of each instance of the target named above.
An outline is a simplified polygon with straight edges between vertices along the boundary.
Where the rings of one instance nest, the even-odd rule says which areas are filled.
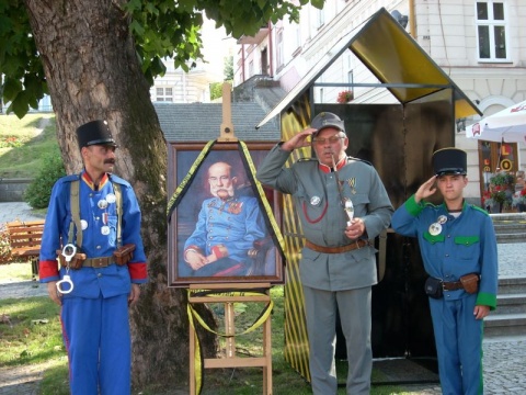
[[[455,116],[482,115],[477,105],[457,87],[405,30],[381,8],[363,26],[342,37],[290,92],[258,124],[279,115],[305,93],[345,50],[352,50],[400,103],[454,89]],[[389,86],[391,84],[391,86]],[[398,84],[398,86],[397,86]],[[403,87],[402,84],[408,84]],[[380,84],[379,84],[380,86]]]

